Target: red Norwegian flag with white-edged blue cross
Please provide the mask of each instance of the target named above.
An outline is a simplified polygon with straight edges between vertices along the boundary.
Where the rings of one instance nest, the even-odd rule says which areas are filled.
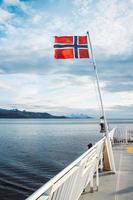
[[[89,58],[87,36],[55,36],[56,59]]]

